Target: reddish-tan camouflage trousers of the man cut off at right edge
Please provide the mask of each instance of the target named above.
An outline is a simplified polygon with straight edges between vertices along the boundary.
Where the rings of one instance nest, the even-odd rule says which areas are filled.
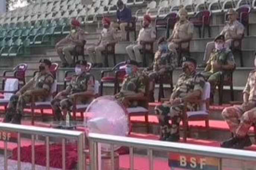
[[[227,107],[222,111],[222,116],[234,135],[244,137],[256,121],[256,108],[244,111],[241,105]]]

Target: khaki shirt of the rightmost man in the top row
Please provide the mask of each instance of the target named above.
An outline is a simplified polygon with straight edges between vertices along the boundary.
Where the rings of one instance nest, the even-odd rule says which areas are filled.
[[[235,37],[239,34],[243,34],[244,32],[244,26],[237,20],[233,23],[228,22],[225,24],[224,28],[222,29],[220,35],[225,36],[225,40],[232,39],[232,37]]]

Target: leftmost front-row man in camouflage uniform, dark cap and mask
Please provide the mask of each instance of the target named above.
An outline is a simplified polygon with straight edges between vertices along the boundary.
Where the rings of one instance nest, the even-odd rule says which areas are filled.
[[[39,72],[10,98],[3,122],[20,124],[23,109],[32,101],[32,95],[35,96],[35,101],[45,101],[49,97],[54,82],[54,77],[49,70],[50,66],[50,60],[40,60]]]

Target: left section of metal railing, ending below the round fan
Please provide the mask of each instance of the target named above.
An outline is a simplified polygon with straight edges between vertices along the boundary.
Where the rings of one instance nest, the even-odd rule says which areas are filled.
[[[15,125],[8,123],[0,123],[0,131],[8,132],[8,133],[17,133],[17,147],[18,147],[18,170],[21,169],[20,164],[20,145],[21,145],[21,134],[29,134],[31,135],[31,144],[32,144],[32,162],[31,169],[35,170],[35,141],[38,136],[44,136],[46,145],[46,169],[50,169],[50,137],[51,138],[61,138],[61,146],[62,146],[62,169],[65,170],[66,166],[66,149],[65,144],[67,140],[76,141],[77,144],[77,154],[78,154],[78,163],[77,169],[84,170],[85,169],[85,159],[83,149],[85,148],[85,135],[83,132],[79,131],[70,131],[70,130],[59,130],[53,128],[42,128],[35,126],[26,126],[26,125]],[[7,157],[7,143],[8,141],[4,141],[4,170],[7,170],[8,167],[8,157]]]

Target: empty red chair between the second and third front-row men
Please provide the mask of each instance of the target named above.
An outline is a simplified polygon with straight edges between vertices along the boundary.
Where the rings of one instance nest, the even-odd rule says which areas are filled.
[[[110,70],[101,71],[101,80],[99,87],[100,96],[102,96],[103,94],[104,83],[114,83],[114,94],[116,94],[119,91],[119,83],[123,82],[124,75],[126,74],[125,70],[120,67],[124,66],[125,64],[126,62],[120,62]],[[108,75],[106,76],[105,73],[108,73]]]

